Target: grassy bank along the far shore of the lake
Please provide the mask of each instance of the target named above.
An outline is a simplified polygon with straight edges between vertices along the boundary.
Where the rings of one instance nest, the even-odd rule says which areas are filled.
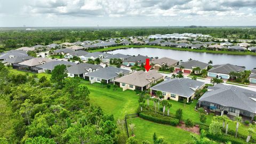
[[[118,49],[126,49],[126,48],[141,48],[141,47],[152,47],[157,49],[167,49],[167,50],[177,50],[177,51],[190,51],[190,52],[206,52],[206,53],[216,53],[216,54],[233,54],[233,55],[256,55],[253,52],[232,52],[232,51],[211,51],[211,50],[194,50],[194,49],[185,49],[185,48],[177,48],[177,47],[168,47],[168,46],[158,46],[158,45],[121,45],[121,46],[113,46],[107,47],[105,49],[97,49],[90,50],[90,52],[105,52],[105,51],[113,51]]]

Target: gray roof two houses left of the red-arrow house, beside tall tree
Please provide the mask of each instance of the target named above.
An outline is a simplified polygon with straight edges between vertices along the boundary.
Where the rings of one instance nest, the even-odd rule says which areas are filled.
[[[78,65],[74,65],[71,67],[68,67],[68,73],[70,74],[76,74],[76,75],[80,75],[80,74],[84,74],[87,71],[87,69],[92,69],[92,70],[96,70],[98,68],[102,68],[100,65],[92,65],[90,63],[80,63]]]

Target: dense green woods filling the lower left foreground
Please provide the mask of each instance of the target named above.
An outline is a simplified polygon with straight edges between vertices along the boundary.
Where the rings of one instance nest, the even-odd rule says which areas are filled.
[[[0,64],[0,143],[117,142],[113,115],[90,106],[87,87],[65,75],[12,75]]]

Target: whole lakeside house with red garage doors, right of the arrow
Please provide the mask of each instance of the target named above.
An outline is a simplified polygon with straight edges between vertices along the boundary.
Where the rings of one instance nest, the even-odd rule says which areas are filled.
[[[191,74],[193,72],[194,68],[199,67],[201,70],[203,70],[203,69],[207,70],[208,66],[209,66],[208,63],[204,63],[204,62],[201,62],[198,60],[190,60],[187,62],[183,62],[178,66],[175,66],[174,69],[175,69],[175,71],[182,71],[182,73]],[[183,67],[183,68],[181,69],[181,67]],[[201,73],[201,70],[195,71],[195,73]]]

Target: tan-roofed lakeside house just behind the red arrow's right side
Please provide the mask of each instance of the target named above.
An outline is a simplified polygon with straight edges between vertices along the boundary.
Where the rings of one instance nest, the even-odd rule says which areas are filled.
[[[158,70],[163,65],[167,66],[168,68],[175,67],[178,65],[179,61],[164,57],[161,59],[152,59],[152,63],[154,64],[153,68]]]

